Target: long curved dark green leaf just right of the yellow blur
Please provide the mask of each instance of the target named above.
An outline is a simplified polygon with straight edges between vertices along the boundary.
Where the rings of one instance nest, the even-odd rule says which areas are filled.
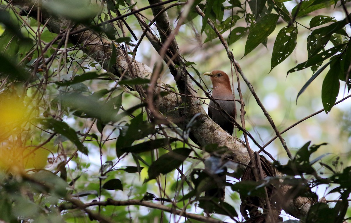
[[[77,146],[78,150],[85,155],[88,155],[88,149],[85,147],[78,139],[77,133],[73,128],[69,127],[64,121],[57,121],[53,118],[50,119],[39,119],[40,124],[44,125],[46,128],[53,130],[61,135],[64,135],[67,139]]]

